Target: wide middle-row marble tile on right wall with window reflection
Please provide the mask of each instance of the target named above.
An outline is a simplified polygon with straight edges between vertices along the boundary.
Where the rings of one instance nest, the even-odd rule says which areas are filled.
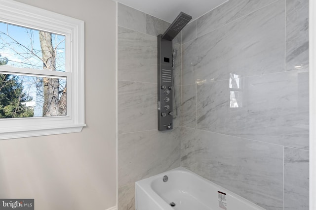
[[[240,89],[230,88],[230,80],[197,85],[198,129],[308,149],[308,72],[246,77],[238,83]]]

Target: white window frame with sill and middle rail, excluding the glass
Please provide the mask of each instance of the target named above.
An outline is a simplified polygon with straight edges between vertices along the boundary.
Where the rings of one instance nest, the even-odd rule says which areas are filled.
[[[84,126],[84,22],[13,0],[0,0],[0,21],[66,37],[66,72],[0,66],[0,72],[67,78],[67,116],[0,119],[0,139],[80,132]]]

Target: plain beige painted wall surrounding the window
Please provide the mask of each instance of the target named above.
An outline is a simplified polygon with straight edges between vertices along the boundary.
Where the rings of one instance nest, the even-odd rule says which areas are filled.
[[[0,141],[0,198],[38,210],[116,205],[116,3],[18,0],[85,22],[85,120],[74,134]]]

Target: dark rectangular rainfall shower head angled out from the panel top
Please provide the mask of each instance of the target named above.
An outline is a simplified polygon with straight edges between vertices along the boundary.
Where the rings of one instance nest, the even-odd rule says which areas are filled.
[[[189,23],[192,19],[190,15],[187,15],[184,12],[180,12],[178,17],[173,21],[169,28],[162,35],[163,39],[172,41],[176,35]]]

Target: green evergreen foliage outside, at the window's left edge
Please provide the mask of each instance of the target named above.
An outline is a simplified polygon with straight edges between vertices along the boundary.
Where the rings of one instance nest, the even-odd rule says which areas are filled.
[[[0,58],[0,65],[5,65],[5,60]],[[32,98],[23,92],[18,76],[0,74],[0,118],[33,117],[33,109],[23,104],[31,100]]]

